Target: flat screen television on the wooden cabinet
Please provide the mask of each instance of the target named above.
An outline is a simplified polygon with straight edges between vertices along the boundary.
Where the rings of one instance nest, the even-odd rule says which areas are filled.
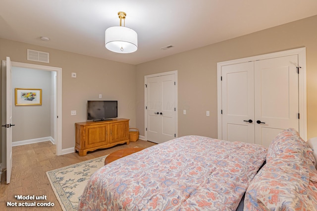
[[[118,117],[118,101],[116,100],[88,100],[87,119],[93,121],[110,120]]]

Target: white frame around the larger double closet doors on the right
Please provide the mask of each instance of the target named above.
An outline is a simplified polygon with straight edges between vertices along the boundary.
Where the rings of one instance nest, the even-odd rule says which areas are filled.
[[[222,66],[244,63],[249,61],[270,59],[270,58],[276,58],[276,57],[288,56],[288,55],[298,55],[298,65],[300,67],[299,79],[298,79],[298,101],[299,101],[299,113],[300,113],[299,134],[305,141],[307,140],[306,47],[217,63],[218,139],[222,139],[222,115],[221,115],[221,109],[222,109],[221,69],[222,69]]]

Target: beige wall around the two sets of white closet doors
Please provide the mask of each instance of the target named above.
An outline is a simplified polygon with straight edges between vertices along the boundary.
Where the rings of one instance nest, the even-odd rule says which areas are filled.
[[[137,65],[137,127],[144,135],[144,76],[178,71],[178,136],[217,137],[217,62],[306,47],[308,138],[317,136],[317,16]],[[177,46],[175,46],[177,47]],[[183,109],[187,114],[183,115]],[[210,111],[210,117],[206,117]]]

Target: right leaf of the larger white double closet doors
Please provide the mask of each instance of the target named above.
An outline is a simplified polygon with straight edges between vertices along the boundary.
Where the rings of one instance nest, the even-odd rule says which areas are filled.
[[[289,127],[299,131],[297,67],[298,55],[255,62],[256,144],[268,147]]]

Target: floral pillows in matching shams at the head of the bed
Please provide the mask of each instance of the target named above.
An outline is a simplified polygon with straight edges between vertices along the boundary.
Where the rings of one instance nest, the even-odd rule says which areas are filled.
[[[251,182],[244,211],[317,211],[317,170],[312,149],[295,129],[270,144],[265,166]]]

